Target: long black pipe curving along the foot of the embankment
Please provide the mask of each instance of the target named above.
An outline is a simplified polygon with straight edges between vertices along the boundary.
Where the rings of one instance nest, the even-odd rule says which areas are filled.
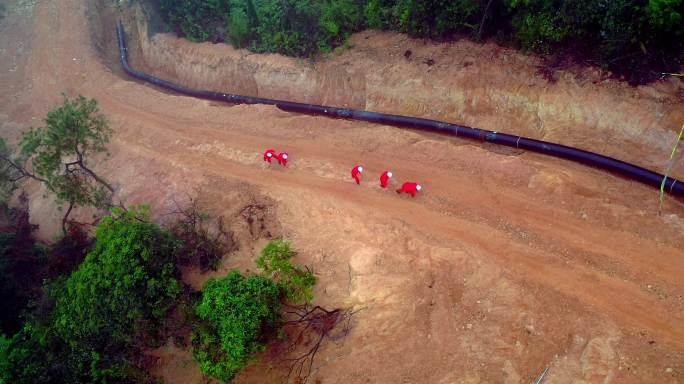
[[[470,139],[486,141],[495,144],[501,144],[508,147],[527,149],[529,151],[543,153],[549,156],[561,157],[564,159],[576,161],[587,164],[597,168],[605,169],[607,171],[619,173],[630,179],[640,181],[642,183],[660,187],[663,179],[665,179],[665,190],[677,196],[684,196],[684,183],[671,178],[665,177],[656,172],[649,171],[625,163],[612,157],[599,155],[597,153],[584,151],[577,148],[567,147],[565,145],[549,143],[541,140],[529,139],[522,136],[508,135],[505,133],[493,132],[484,129],[470,128],[463,125],[445,123],[437,120],[421,119],[418,117],[409,117],[401,115],[391,115],[387,113],[369,112],[358,109],[327,107],[324,105],[314,105],[305,103],[293,103],[290,101],[263,99],[260,97],[249,97],[241,95],[233,95],[230,93],[212,92],[204,90],[196,90],[183,87],[178,84],[171,83],[166,80],[148,75],[143,72],[138,72],[128,65],[128,58],[126,53],[126,41],[124,37],[123,25],[119,22],[116,26],[116,32],[119,39],[119,54],[121,56],[121,65],[124,70],[142,81],[152,83],[156,86],[170,89],[184,95],[198,97],[208,100],[225,101],[233,104],[268,104],[290,112],[305,113],[311,115],[324,115],[333,118],[343,118],[351,120],[368,121],[371,123],[379,123],[385,125],[392,125],[396,127],[407,127],[421,130],[430,130],[440,133],[447,133],[455,136],[467,137]]]

